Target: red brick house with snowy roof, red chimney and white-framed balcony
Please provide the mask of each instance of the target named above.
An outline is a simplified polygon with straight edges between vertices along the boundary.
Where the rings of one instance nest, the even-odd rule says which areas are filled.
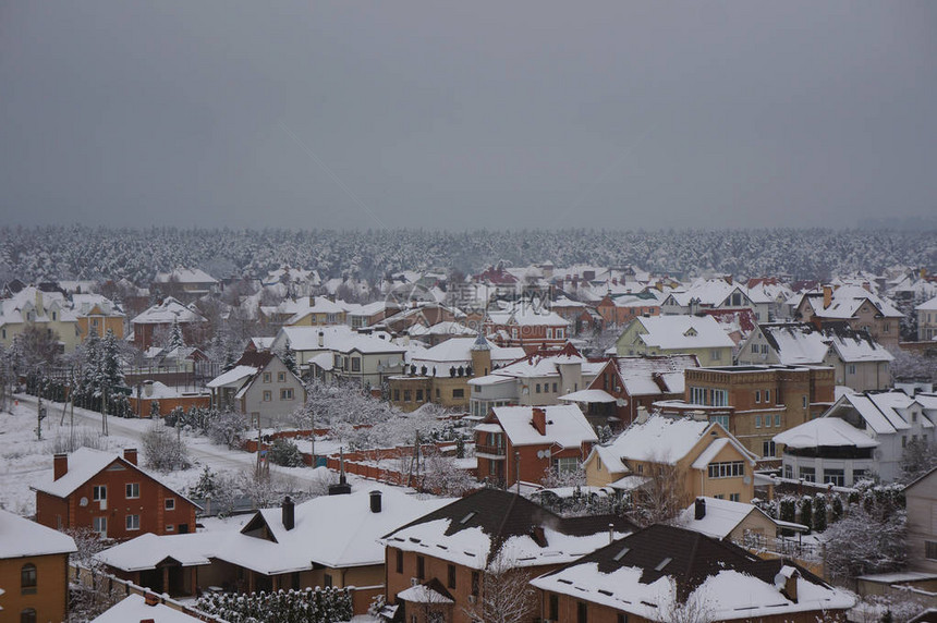
[[[580,408],[496,406],[475,427],[476,474],[510,488],[579,469],[598,437]]]

